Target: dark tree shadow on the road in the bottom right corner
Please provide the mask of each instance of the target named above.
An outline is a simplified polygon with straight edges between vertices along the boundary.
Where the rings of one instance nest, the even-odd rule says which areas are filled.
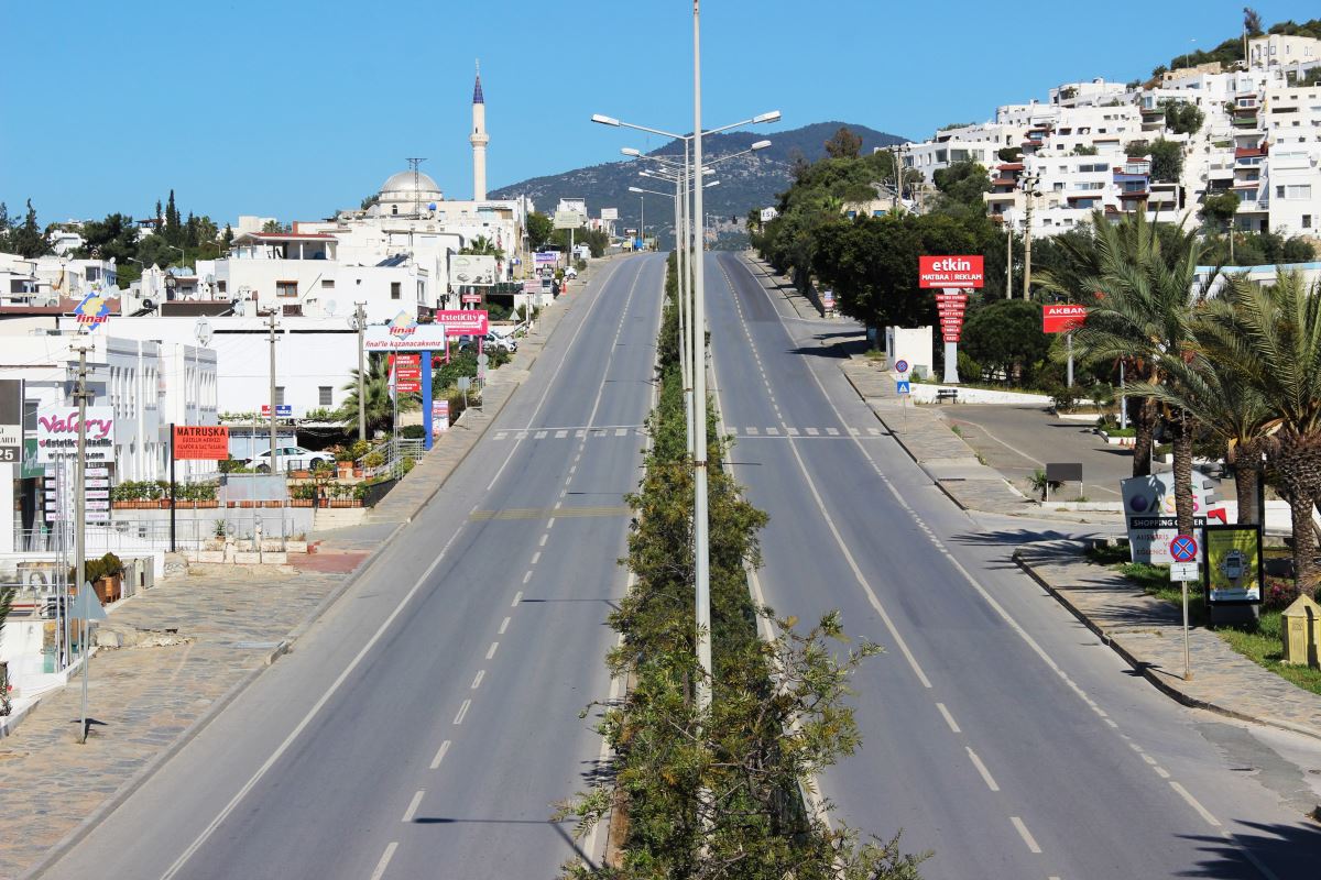
[[[1201,846],[1206,858],[1180,877],[1242,877],[1260,880],[1263,876],[1316,877],[1321,873],[1321,827],[1300,819],[1297,825],[1244,822],[1256,834],[1238,833],[1232,839],[1218,835],[1186,835]],[[1244,855],[1251,852],[1271,873],[1260,871]]]

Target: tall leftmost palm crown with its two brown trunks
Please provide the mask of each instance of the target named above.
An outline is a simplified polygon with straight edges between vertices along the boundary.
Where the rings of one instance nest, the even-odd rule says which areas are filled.
[[[1096,297],[1096,305],[1077,332],[1078,347],[1094,358],[1124,359],[1139,368],[1148,385],[1160,384],[1166,380],[1162,363],[1190,355],[1194,306],[1205,299],[1219,270],[1198,286],[1202,244],[1196,231],[1182,226],[1162,235],[1141,211],[1115,224],[1098,211],[1092,222],[1098,272],[1083,277],[1082,284],[1085,293]],[[1156,421],[1156,400],[1147,396],[1135,420],[1133,476],[1151,474]],[[1180,532],[1186,534],[1193,528],[1194,422],[1186,409],[1174,408],[1165,424],[1174,447],[1176,517]]]

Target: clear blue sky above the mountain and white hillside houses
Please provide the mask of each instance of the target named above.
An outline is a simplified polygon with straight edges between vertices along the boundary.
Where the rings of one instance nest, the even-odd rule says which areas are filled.
[[[316,219],[424,156],[472,195],[473,62],[490,189],[692,128],[688,0],[0,0],[0,201],[40,220],[185,212]],[[707,0],[704,121],[781,110],[908,137],[1059,82],[1147,75],[1239,33],[1243,3]],[[1267,25],[1321,13],[1262,0]],[[773,132],[774,129],[770,129]],[[768,132],[768,133],[770,133]]]

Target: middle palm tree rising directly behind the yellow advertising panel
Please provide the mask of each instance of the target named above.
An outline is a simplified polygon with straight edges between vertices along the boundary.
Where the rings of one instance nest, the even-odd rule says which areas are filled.
[[[1194,325],[1194,334],[1197,326]],[[1225,460],[1234,471],[1238,521],[1264,522],[1256,509],[1262,453],[1269,409],[1251,384],[1242,381],[1232,364],[1198,351],[1188,359],[1164,356],[1161,384],[1139,384],[1133,393],[1182,410],[1209,429],[1225,445]]]

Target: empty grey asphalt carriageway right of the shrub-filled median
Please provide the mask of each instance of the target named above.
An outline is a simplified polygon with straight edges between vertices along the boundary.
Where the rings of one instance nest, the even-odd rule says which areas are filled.
[[[1159,694],[1009,561],[1052,524],[958,511],[885,437],[830,351],[742,261],[707,269],[715,388],[749,499],[756,588],[882,644],[831,817],[929,879],[1316,877],[1321,748]]]

